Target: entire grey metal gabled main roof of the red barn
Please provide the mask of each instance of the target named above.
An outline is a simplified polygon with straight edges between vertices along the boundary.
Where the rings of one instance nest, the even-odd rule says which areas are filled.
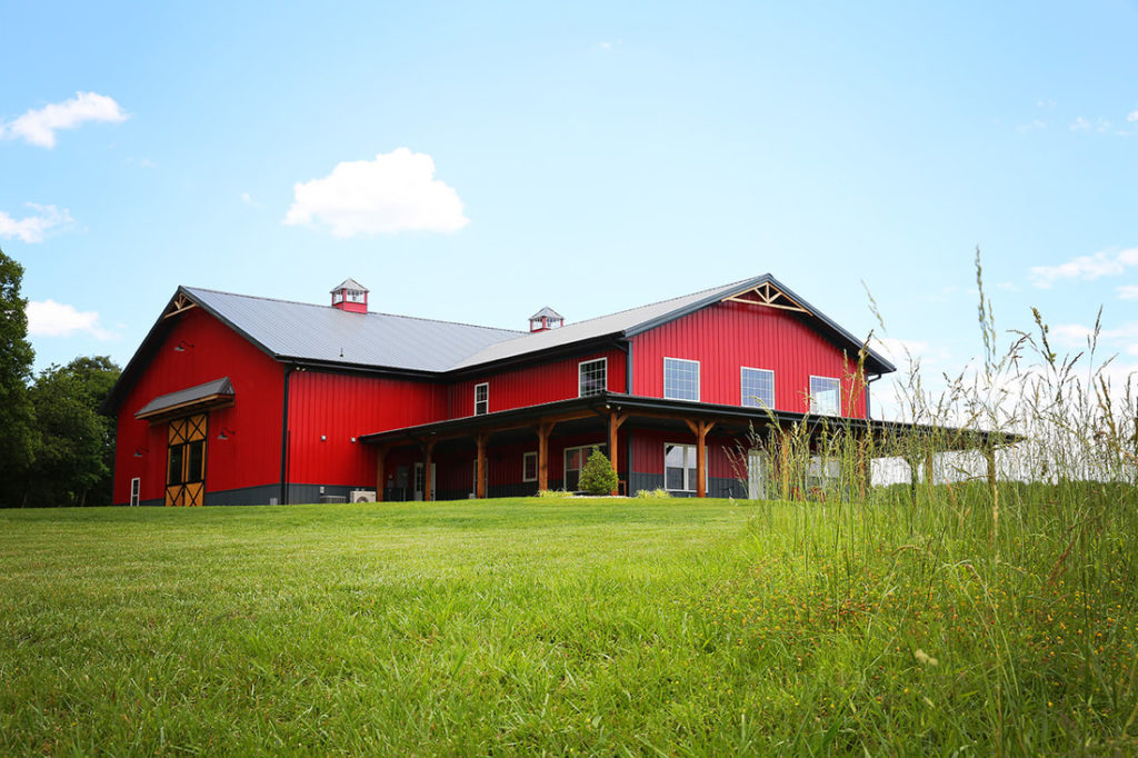
[[[577,344],[627,339],[721,300],[747,297],[766,286],[773,286],[781,296],[789,298],[794,307],[787,310],[836,347],[850,355],[861,349],[861,340],[770,274],[536,332],[387,313],[347,313],[327,305],[179,287],[126,364],[104,407],[116,407],[134,384],[162,337],[172,328],[167,316],[192,305],[200,306],[278,361],[348,370],[438,374],[572,349]],[[867,351],[865,366],[868,373],[897,370],[873,351]]]

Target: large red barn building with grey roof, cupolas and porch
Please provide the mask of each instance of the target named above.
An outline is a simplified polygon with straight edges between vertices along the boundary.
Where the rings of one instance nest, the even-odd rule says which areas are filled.
[[[527,332],[371,313],[351,279],[330,306],[180,287],[108,401],[114,502],[571,491],[594,446],[628,493],[753,496],[749,429],[868,419],[894,368],[861,352],[769,274]]]

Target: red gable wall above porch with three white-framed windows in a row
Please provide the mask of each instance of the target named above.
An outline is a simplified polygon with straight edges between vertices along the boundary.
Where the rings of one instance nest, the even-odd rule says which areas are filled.
[[[663,359],[700,362],[700,401],[741,405],[740,368],[775,372],[775,407],[809,410],[810,376],[842,384],[842,413],[865,418],[864,388],[853,389],[857,355],[840,349],[793,314],[720,303],[638,335],[633,343],[633,394],[663,397]],[[852,395],[852,397],[851,397]],[[715,476],[715,475],[712,475]]]

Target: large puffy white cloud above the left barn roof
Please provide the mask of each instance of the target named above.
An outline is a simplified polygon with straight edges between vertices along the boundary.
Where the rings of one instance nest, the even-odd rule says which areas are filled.
[[[435,179],[435,160],[407,148],[339,163],[328,176],[297,182],[292,190],[283,223],[323,223],[335,237],[453,232],[470,223],[459,193]]]

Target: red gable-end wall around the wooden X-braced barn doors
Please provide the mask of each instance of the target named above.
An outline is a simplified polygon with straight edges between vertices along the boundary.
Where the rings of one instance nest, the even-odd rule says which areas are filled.
[[[179,343],[182,351],[174,349]],[[133,477],[141,479],[141,500],[164,495],[167,425],[139,421],[135,411],[155,397],[221,377],[232,381],[236,399],[230,407],[209,412],[207,492],[280,481],[283,370],[208,313],[193,308],[176,316],[118,410],[115,503],[130,502]],[[223,428],[236,434],[217,439]]]

